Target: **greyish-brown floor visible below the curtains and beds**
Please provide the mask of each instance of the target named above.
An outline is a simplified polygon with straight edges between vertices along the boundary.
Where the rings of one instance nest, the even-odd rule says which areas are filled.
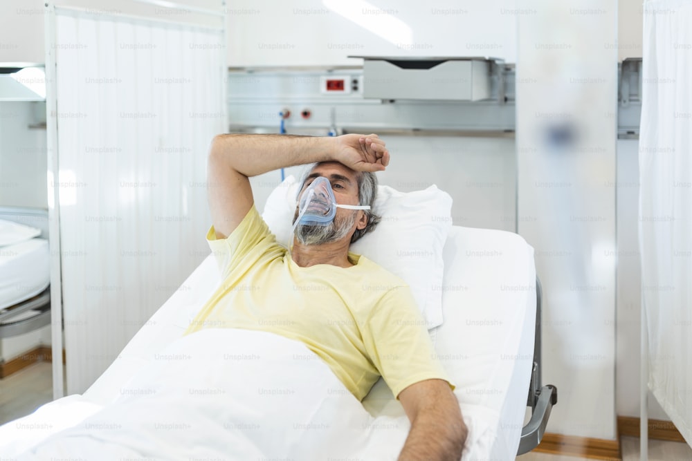
[[[0,424],[32,413],[53,399],[52,372],[49,362],[38,362],[0,379]],[[649,441],[649,461],[691,461],[692,449],[680,442]],[[622,438],[623,461],[639,461],[639,439]],[[577,461],[579,458],[546,453],[527,453],[516,461]]]

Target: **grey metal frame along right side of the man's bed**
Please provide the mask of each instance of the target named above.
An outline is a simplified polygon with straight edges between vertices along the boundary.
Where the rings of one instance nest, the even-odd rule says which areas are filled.
[[[543,290],[540,279],[536,275],[536,330],[534,331],[534,365],[531,368],[531,383],[529,384],[529,396],[527,406],[531,407],[531,419],[523,427],[519,440],[517,455],[528,453],[538,446],[543,439],[545,426],[548,424],[550,411],[553,405],[558,403],[558,389],[552,384],[541,384],[541,357],[540,357],[540,304],[543,299]]]

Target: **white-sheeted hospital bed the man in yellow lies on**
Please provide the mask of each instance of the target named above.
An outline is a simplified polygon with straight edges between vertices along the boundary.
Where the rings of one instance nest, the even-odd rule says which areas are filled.
[[[543,386],[540,381],[541,291],[533,248],[510,232],[450,225],[442,256],[443,279],[439,286],[432,288],[441,292],[444,321],[430,330],[430,336],[439,359],[456,385],[455,395],[469,427],[462,459],[513,460],[517,454],[530,451],[540,442],[552,405],[556,404],[554,386]],[[219,270],[210,255],[83,395],[57,399],[32,415],[0,426],[0,453],[17,456],[20,460],[42,459],[42,456],[55,453],[79,454],[89,459],[89,453],[104,453],[104,446],[100,444],[107,439],[111,444],[127,445],[123,451],[113,451],[113,446],[109,445],[107,453],[112,453],[113,459],[118,456],[121,459],[128,456],[190,459],[190,456],[199,458],[203,455],[218,456],[219,459],[250,459],[250,455],[312,460],[335,457],[396,459],[408,434],[408,419],[382,380],[375,384],[361,406],[344,391],[345,388],[338,388],[340,383],[318,374],[320,367],[326,366],[320,360],[309,360],[307,348],[302,352],[296,350],[285,342],[289,340],[276,335],[235,330],[233,335],[240,340],[230,348],[224,345],[224,335],[230,333],[214,328],[181,339],[183,331],[219,281]],[[176,346],[205,332],[208,336],[202,350]],[[234,373],[235,370],[257,372],[267,366],[275,367],[266,379],[275,380],[275,384],[281,384],[284,389],[289,388],[289,383],[295,379],[300,379],[300,375],[311,379],[303,382],[307,386],[305,393],[298,391],[298,397],[283,399],[280,405],[271,399],[281,397],[270,395],[269,391],[261,399],[254,392],[245,393],[244,401],[224,416],[233,418],[235,413],[243,413],[239,420],[224,422],[223,429],[231,431],[219,433],[224,434],[221,437],[199,440],[203,439],[204,433],[213,434],[216,429],[206,425],[206,421],[198,422],[197,408],[181,410],[181,419],[181,415],[169,412],[172,407],[176,410],[185,407],[182,400],[151,402],[172,392],[172,386],[181,385],[179,382],[192,379],[186,382],[186,389],[199,387],[203,382],[207,394],[218,391],[217,395],[195,395],[194,398],[210,399],[200,400],[199,406],[208,404],[212,413],[219,411],[215,406],[228,399],[229,393],[243,393],[251,386],[249,382],[238,384],[239,380],[234,379],[235,391],[227,392],[226,388],[221,390],[227,384],[218,384],[220,378],[216,375],[194,381],[197,375],[214,368],[218,363],[214,357],[218,356],[221,361],[222,355],[224,366],[235,367]],[[199,367],[199,364],[195,365],[197,361],[204,362],[201,366],[206,368],[202,371],[194,368]],[[167,362],[166,367],[174,366],[174,369],[161,368],[162,362]],[[338,381],[333,376],[331,379]],[[315,408],[307,411],[310,419],[294,422],[294,430],[289,435],[277,435],[280,433],[267,427],[275,420],[284,419],[287,424],[287,414],[300,413],[302,399],[307,402],[312,399],[311,394],[322,392],[322,388],[327,388],[327,393],[322,394]],[[248,411],[250,402],[261,406],[267,401],[271,401],[271,405],[259,414]],[[120,413],[117,410],[105,411],[105,416],[99,417],[102,408],[117,407],[109,406],[113,402],[120,402],[125,409]],[[532,415],[525,424],[527,406]],[[275,413],[277,407],[282,411]],[[135,420],[138,426],[136,431],[124,434],[127,425],[134,424],[132,420],[127,422],[131,411],[141,412]],[[165,426],[168,431],[165,435],[160,435],[163,431],[161,418],[147,420],[156,413],[165,414],[170,423]],[[327,422],[320,417],[327,417]],[[147,422],[140,422],[141,419]],[[152,430],[156,424],[161,430]],[[327,432],[320,432],[330,424],[332,429],[339,427],[341,431],[334,440],[325,435]],[[199,430],[200,427],[205,429]],[[176,428],[181,430],[176,431]],[[56,448],[51,445],[51,436],[62,430],[70,433],[71,437],[62,438],[65,444]],[[240,436],[235,438],[236,433],[244,434],[244,439],[239,440]],[[159,437],[165,440],[154,440]],[[229,437],[232,438],[230,444],[222,446],[224,442],[219,439]],[[286,443],[284,437],[300,440],[300,444],[282,446]],[[250,440],[247,451],[238,454],[237,447],[245,446],[245,438]],[[347,440],[346,445],[343,440]],[[275,449],[275,445],[279,448]],[[74,453],[71,447],[82,451]],[[28,451],[25,453],[25,450]],[[233,450],[236,451],[229,454]],[[37,454],[28,454],[33,451]]]

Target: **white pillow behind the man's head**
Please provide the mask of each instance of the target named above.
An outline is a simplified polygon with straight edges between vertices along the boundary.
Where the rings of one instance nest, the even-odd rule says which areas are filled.
[[[289,176],[266,200],[262,217],[277,241],[293,242],[291,221],[300,185]],[[408,283],[428,329],[442,323],[442,248],[452,227],[452,198],[432,185],[415,192],[378,186],[373,211],[382,217],[373,232],[351,245]]]

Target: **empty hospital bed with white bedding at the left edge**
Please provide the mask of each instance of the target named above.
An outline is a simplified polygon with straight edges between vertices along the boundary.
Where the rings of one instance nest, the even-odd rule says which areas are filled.
[[[6,338],[51,323],[48,211],[0,207],[0,220],[40,231],[35,238],[0,246],[0,338]]]

